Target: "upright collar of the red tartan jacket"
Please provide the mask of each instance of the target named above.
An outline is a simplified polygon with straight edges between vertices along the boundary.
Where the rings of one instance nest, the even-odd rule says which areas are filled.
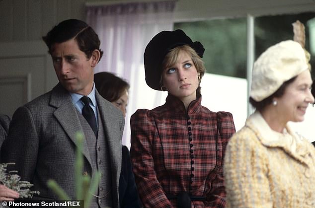
[[[201,94],[197,94],[197,99],[191,101],[187,108],[187,112],[184,106],[184,103],[179,100],[177,97],[168,94],[166,97],[165,106],[170,110],[170,112],[174,112],[176,114],[195,114],[200,111],[201,106]]]

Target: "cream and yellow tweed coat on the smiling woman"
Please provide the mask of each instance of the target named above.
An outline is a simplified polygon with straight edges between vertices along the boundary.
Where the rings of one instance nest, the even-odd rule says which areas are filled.
[[[230,140],[227,208],[315,208],[315,148],[288,126],[273,132],[259,112]]]

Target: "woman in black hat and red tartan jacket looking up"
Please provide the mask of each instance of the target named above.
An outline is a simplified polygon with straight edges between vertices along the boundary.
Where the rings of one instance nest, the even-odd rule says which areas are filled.
[[[201,106],[204,48],[182,31],[162,31],[144,53],[147,84],[166,103],[131,117],[131,158],[144,207],[224,208],[223,158],[235,133],[231,113]]]

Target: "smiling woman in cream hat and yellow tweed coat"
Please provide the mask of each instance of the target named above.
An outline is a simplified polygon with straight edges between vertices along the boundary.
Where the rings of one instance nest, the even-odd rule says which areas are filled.
[[[256,111],[226,150],[227,207],[315,208],[314,146],[287,125],[304,120],[311,85],[298,42],[280,42],[257,59],[249,99]]]

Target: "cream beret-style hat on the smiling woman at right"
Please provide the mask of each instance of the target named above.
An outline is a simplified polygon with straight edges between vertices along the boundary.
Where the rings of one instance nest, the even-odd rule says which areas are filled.
[[[301,44],[287,40],[269,47],[255,61],[250,97],[259,102],[276,92],[287,80],[309,69]]]

